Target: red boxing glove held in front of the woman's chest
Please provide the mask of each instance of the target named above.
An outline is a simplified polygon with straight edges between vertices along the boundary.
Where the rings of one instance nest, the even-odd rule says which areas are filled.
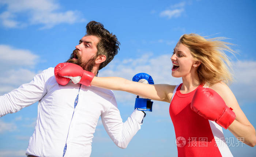
[[[198,88],[191,102],[191,109],[200,116],[215,121],[227,129],[235,120],[236,114],[226,106],[222,97],[210,88]]]

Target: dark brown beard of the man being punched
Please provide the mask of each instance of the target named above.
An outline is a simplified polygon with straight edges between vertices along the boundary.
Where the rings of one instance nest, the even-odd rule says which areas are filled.
[[[74,57],[74,53],[76,54],[76,57]],[[73,58],[77,58],[77,60],[73,60]],[[88,60],[87,62],[83,62],[82,58],[80,57],[78,50],[75,49],[73,53],[70,55],[70,58],[66,61],[68,63],[74,63],[79,66],[81,66],[84,70],[91,72],[93,70],[93,67],[95,65],[96,56],[93,56]]]

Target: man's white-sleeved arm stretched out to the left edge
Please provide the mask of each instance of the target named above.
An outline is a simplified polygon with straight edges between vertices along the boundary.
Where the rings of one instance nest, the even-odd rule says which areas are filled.
[[[50,71],[53,72],[50,68],[46,69],[37,74],[30,83],[23,84],[19,88],[0,96],[0,116],[18,112],[42,99],[46,93],[45,83]]]

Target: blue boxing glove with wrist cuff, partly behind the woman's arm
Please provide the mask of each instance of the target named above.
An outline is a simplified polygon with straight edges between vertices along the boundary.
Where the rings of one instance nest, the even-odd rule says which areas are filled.
[[[132,81],[145,83],[145,84],[154,84],[153,78],[147,73],[136,74],[135,76],[133,76]],[[151,102],[151,99],[140,98],[137,95],[137,98],[135,99],[134,108],[137,108],[137,110],[140,110],[140,111],[152,112],[152,105],[153,105],[153,102]]]

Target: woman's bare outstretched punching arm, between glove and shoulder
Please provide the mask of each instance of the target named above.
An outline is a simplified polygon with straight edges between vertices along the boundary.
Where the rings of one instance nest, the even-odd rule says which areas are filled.
[[[168,84],[144,84],[121,77],[94,77],[91,85],[116,91],[125,91],[148,99],[170,103],[175,88]]]

